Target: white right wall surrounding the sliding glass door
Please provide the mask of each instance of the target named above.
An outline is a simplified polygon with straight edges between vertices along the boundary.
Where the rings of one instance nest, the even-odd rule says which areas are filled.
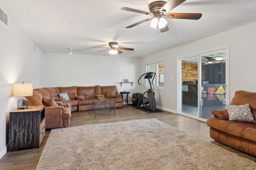
[[[177,111],[178,57],[228,45],[230,47],[229,99],[234,97],[237,90],[256,92],[255,30],[256,22],[144,57],[141,67],[164,61],[164,89],[155,91],[156,98],[159,98],[157,105],[174,113]],[[173,77],[174,81],[170,81],[170,77]]]

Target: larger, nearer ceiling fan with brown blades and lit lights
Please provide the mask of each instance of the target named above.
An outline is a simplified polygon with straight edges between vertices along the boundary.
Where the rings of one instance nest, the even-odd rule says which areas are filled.
[[[168,2],[164,2],[164,1],[152,2],[151,4],[148,5],[150,12],[136,10],[136,9],[127,8],[127,7],[121,8],[121,10],[137,12],[140,14],[146,14],[146,15],[152,16],[152,18],[147,18],[145,20],[142,20],[140,22],[127,26],[126,28],[132,28],[134,26],[137,26],[139,24],[152,20],[150,23],[150,27],[156,29],[158,26],[158,28],[160,29],[160,32],[166,32],[169,30],[169,28],[167,26],[167,21],[164,18],[188,19],[188,20],[200,19],[202,16],[202,14],[200,13],[168,13],[170,10],[172,10],[173,8],[182,4],[185,1],[186,0],[169,0]]]

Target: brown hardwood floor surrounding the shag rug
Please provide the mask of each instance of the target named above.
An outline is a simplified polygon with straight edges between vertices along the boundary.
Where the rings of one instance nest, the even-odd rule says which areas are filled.
[[[203,140],[212,142],[222,148],[225,148],[231,152],[235,152],[242,157],[248,158],[256,162],[256,157],[232,149],[210,138],[209,127],[206,125],[205,122],[166,111],[164,113],[149,114],[144,111],[140,111],[139,109],[136,109],[134,107],[128,107],[127,105],[124,105],[123,108],[116,109],[116,116],[114,116],[114,113],[99,112],[97,114],[97,117],[95,118],[94,114],[92,114],[92,111],[72,112],[72,116],[70,119],[70,127],[148,118],[158,119],[159,121],[172,125],[173,127],[177,127],[194,136],[198,136]],[[50,130],[47,130],[40,148],[23,149],[13,152],[7,152],[0,159],[0,170],[34,170],[36,168],[37,162],[40,158],[40,154],[42,152],[42,149],[48,138],[49,133]],[[171,137],[172,136],[170,136],[170,138]]]

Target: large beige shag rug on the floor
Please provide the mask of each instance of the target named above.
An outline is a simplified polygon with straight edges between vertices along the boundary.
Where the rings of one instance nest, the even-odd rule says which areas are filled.
[[[252,170],[256,163],[156,119],[51,130],[37,170]]]

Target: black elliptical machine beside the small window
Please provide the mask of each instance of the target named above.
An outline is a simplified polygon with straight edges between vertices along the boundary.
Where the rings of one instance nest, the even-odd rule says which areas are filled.
[[[156,73],[153,73],[153,72],[148,72],[148,73],[145,73],[143,74],[142,76],[144,76],[144,79],[148,79],[148,83],[150,85],[150,89],[148,89],[147,91],[145,91],[143,93],[143,95],[140,97],[140,100],[136,106],[136,108],[138,109],[138,107],[145,107],[146,109],[149,109],[150,111],[156,111],[156,99],[155,99],[155,93],[154,93],[154,90],[152,89],[152,85],[154,87],[154,84],[153,84],[153,80],[155,78],[155,75]],[[141,77],[139,78],[138,80],[138,84],[140,84],[140,79]],[[154,77],[153,77],[154,76]],[[152,85],[151,85],[151,82],[150,82],[150,79],[153,77],[152,79]],[[145,88],[145,87],[144,87]],[[145,88],[146,89],[146,88]],[[144,97],[144,95],[147,93],[147,97]],[[143,102],[143,99],[145,99],[145,101]]]

